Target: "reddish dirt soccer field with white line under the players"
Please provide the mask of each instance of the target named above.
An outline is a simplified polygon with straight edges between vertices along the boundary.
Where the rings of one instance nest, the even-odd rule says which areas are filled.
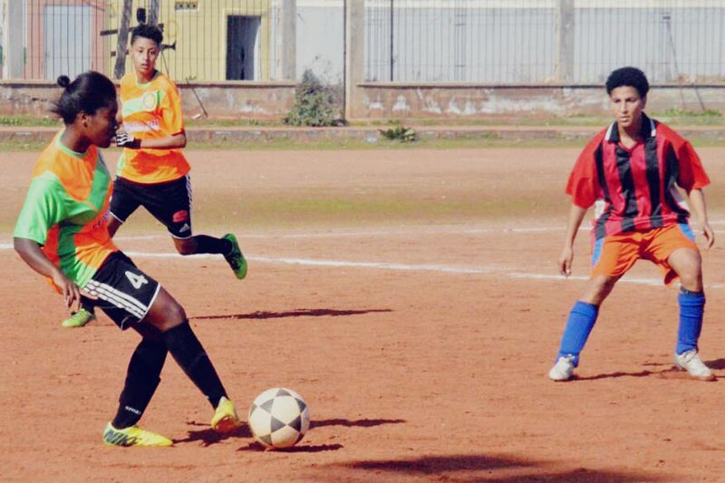
[[[677,288],[640,262],[605,302],[578,378],[546,373],[588,274],[557,275],[578,149],[189,150],[198,234],[237,233],[249,275],[174,255],[145,213],[117,244],[183,304],[237,408],[298,391],[312,428],[263,451],[228,438],[169,358],[141,426],[173,448],[102,443],[135,333],[63,329],[59,296],[10,249],[37,153],[3,155],[3,481],[721,481],[725,150],[703,148],[719,237],[704,254],[701,355],[672,369]],[[114,165],[117,150],[107,154]]]

